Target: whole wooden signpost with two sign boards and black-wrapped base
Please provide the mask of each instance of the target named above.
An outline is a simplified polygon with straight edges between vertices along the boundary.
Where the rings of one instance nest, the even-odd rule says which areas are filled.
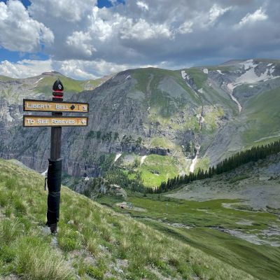
[[[23,111],[52,112],[52,116],[23,116],[24,127],[51,127],[46,224],[52,233],[57,232],[57,222],[59,221],[62,127],[85,127],[88,125],[87,117],[62,116],[62,112],[88,113],[89,111],[87,103],[63,102],[63,90],[61,81],[57,79],[52,87],[52,101],[23,99]]]

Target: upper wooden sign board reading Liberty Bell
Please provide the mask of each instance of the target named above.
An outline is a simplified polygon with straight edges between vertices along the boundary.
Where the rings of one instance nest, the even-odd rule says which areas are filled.
[[[23,111],[88,113],[88,103],[23,99]]]

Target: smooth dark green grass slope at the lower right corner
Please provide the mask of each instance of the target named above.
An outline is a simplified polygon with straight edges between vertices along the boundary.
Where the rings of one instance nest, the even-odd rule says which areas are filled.
[[[279,279],[280,250],[277,248],[251,244],[211,228],[184,230],[153,221],[145,221],[145,223],[185,241],[209,255],[214,255],[234,267],[239,267],[257,279]]]

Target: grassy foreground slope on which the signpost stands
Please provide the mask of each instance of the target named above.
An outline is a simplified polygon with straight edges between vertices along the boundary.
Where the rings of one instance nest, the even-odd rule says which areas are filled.
[[[54,237],[44,230],[46,197],[43,176],[0,160],[0,276],[253,279],[68,188],[62,188],[59,232]]]

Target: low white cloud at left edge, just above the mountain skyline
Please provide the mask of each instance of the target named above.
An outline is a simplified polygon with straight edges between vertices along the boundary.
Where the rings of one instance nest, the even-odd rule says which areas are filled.
[[[27,78],[38,76],[45,71],[52,71],[52,62],[48,60],[23,59],[19,62],[8,62],[4,60],[0,63],[0,74],[12,78]]]

